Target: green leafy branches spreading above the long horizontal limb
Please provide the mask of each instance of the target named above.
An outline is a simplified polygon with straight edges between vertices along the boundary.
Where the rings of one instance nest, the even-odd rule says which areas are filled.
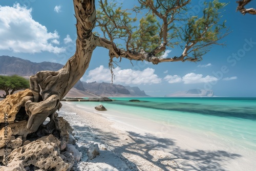
[[[189,49],[185,56],[193,54],[197,59],[228,34],[227,30],[223,33],[225,21],[221,23],[221,11],[226,3],[218,0],[205,1],[198,11],[193,11],[189,0],[137,1],[140,6],[128,12],[113,0],[99,0],[97,26],[118,48],[152,52],[164,44],[169,48],[178,46],[183,51]],[[138,16],[142,17],[137,19]]]

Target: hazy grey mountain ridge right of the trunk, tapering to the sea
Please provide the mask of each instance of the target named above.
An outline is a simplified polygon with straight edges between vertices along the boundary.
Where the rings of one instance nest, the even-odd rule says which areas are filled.
[[[106,82],[98,83],[94,82],[82,82],[83,88],[89,92],[97,94],[99,96],[108,97],[145,97],[148,96],[144,91],[141,91],[138,87],[122,86],[120,84],[111,84]]]

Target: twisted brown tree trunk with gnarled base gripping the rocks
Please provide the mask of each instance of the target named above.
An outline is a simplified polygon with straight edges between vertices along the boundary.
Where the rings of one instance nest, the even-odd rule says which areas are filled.
[[[27,128],[32,132],[50,117],[54,122],[60,100],[65,97],[89,67],[93,50],[96,48],[92,29],[95,26],[96,9],[94,0],[73,0],[77,19],[76,52],[60,70],[40,71],[30,77],[30,89],[34,99],[25,104],[29,115]],[[50,123],[48,125],[51,125]]]

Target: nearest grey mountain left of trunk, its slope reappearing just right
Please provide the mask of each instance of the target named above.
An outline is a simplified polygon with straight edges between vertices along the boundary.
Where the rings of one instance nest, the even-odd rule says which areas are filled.
[[[58,71],[63,65],[54,62],[31,62],[17,57],[0,56],[0,75],[19,75],[29,77],[38,71]],[[84,91],[82,82],[79,80],[75,86],[76,89]]]

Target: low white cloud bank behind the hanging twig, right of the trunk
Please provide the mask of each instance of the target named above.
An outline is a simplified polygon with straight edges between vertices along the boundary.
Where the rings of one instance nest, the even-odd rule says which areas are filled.
[[[124,69],[121,70],[120,67],[113,69],[115,74],[115,83],[125,83],[125,84],[152,84],[160,83],[161,78],[154,74],[155,70],[151,68],[146,68],[143,71]],[[111,72],[108,68],[103,66],[97,67],[89,71],[88,79],[86,82],[111,82]]]

